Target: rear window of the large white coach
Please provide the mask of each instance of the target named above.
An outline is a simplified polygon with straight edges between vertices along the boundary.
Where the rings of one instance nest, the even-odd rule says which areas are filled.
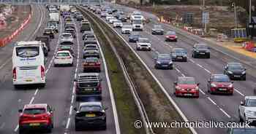
[[[39,55],[39,47],[16,47],[16,55],[20,58],[33,58]]]

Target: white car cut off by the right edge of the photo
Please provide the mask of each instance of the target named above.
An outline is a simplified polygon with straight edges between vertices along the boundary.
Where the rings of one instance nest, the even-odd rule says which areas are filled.
[[[238,108],[240,122],[256,123],[256,96],[245,96]]]

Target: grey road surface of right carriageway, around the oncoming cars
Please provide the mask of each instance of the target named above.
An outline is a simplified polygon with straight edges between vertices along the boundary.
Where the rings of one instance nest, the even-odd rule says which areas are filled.
[[[113,6],[115,7],[115,6]],[[132,12],[135,9],[118,6],[124,12]],[[154,15],[142,12],[146,17],[152,17]],[[143,38],[148,38],[152,44],[151,52],[138,52],[143,62],[151,69],[153,74],[157,76],[157,79],[165,87],[165,90],[169,92],[169,95],[176,101],[178,107],[183,111],[189,121],[202,121],[202,120],[214,120],[216,122],[238,122],[238,106],[244,99],[245,95],[253,95],[253,87],[255,86],[256,77],[246,74],[246,81],[235,81],[235,92],[231,95],[210,95],[206,90],[207,80],[211,74],[223,74],[223,68],[227,62],[236,61],[233,58],[222,58],[222,55],[218,55],[218,52],[211,50],[210,59],[194,59],[191,58],[192,45],[195,42],[189,41],[178,34],[178,42],[165,42],[165,36],[151,35],[151,28],[156,22],[146,23],[143,31],[140,31],[140,35]],[[129,23],[124,23],[129,25]],[[168,25],[164,25],[165,31],[173,30]],[[116,31],[121,34],[121,28],[116,28]],[[128,35],[121,34],[128,42]],[[200,41],[199,41],[200,42]],[[135,49],[135,43],[129,43],[129,45]],[[156,70],[154,68],[154,57],[157,53],[170,53],[175,47],[181,47],[188,51],[189,60],[187,63],[175,62],[174,70]],[[239,62],[239,61],[237,61]],[[176,81],[177,76],[193,76],[200,82],[200,98],[176,98],[173,95],[173,82]],[[197,129],[197,133],[200,134],[216,134],[226,133],[224,128],[200,128]]]

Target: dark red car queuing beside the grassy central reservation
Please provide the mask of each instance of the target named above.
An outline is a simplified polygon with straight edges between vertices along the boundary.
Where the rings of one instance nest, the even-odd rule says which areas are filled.
[[[98,58],[86,58],[83,60],[83,72],[97,71],[100,72],[100,61]]]

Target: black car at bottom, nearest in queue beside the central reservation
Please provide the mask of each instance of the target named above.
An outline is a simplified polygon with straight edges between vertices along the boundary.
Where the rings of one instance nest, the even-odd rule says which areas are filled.
[[[104,108],[101,102],[83,102],[75,113],[75,130],[87,129],[107,129],[106,113],[108,108]]]

